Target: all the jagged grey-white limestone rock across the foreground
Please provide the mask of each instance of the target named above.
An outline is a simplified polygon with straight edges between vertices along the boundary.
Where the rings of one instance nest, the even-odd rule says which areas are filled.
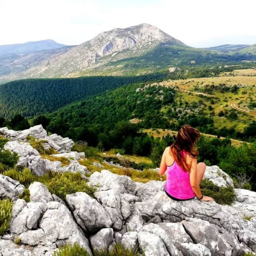
[[[70,151],[74,142],[57,134],[47,136],[42,126],[25,131],[0,128],[10,138],[5,148],[17,152],[19,165],[40,176],[47,169],[89,173],[78,160],[83,153]],[[42,159],[27,136],[46,140],[45,147],[72,159],[69,166]],[[205,178],[217,186],[233,186],[218,166],[208,166]],[[0,198],[12,198],[10,228],[0,237],[0,256],[50,256],[59,246],[77,242],[91,255],[111,250],[116,243],[139,248],[146,256],[229,256],[256,252],[256,192],[235,189],[231,206],[193,199],[177,202],[166,196],[164,182],[134,182],[108,170],[91,174],[88,184],[95,198],[84,192],[50,194],[46,186],[29,186],[30,202],[18,199],[24,186],[0,175]],[[223,195],[225,196],[225,195]],[[250,217],[246,220],[244,217]],[[20,240],[19,244],[14,241]]]

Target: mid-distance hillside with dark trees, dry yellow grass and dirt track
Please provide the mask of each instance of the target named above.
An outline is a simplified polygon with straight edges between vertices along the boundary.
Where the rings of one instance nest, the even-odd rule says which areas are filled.
[[[64,106],[50,117],[52,124],[74,129],[97,125],[108,130],[130,121],[140,128],[178,130],[188,123],[206,134],[242,138],[255,120],[255,102],[255,76],[188,78],[122,86]]]

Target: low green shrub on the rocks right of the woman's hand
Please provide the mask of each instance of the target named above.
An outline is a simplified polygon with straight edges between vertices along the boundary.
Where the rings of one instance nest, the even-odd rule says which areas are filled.
[[[215,199],[218,204],[228,204],[231,205],[235,198],[234,188],[228,187],[218,187],[212,181],[208,179],[202,180],[200,183],[201,192],[204,196],[210,196]]]

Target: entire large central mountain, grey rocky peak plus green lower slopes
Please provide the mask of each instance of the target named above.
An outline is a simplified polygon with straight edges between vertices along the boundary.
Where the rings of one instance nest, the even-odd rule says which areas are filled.
[[[22,70],[12,62],[8,72],[0,74],[0,83],[24,78],[141,75],[176,66],[213,66],[242,60],[254,61],[255,56],[246,52],[233,55],[193,48],[155,26],[140,24],[102,32],[60,54],[49,54],[30,64],[22,63]]]

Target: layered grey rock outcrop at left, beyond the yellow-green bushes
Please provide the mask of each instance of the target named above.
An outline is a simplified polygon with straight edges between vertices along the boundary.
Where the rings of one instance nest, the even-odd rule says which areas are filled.
[[[37,176],[42,176],[46,170],[90,174],[86,166],[79,163],[79,160],[85,157],[84,152],[71,151],[74,142],[69,138],[62,138],[57,134],[47,136],[47,132],[42,125],[33,126],[23,131],[8,130],[8,128],[4,127],[0,128],[0,134],[10,139],[4,145],[4,149],[18,154],[19,160],[16,165],[30,169]],[[58,152],[58,154],[52,154],[52,157],[56,159],[67,158],[70,164],[68,166],[62,166],[62,162],[60,161],[43,159],[39,152],[30,145],[28,136],[38,141],[43,141],[45,149],[53,148]]]

